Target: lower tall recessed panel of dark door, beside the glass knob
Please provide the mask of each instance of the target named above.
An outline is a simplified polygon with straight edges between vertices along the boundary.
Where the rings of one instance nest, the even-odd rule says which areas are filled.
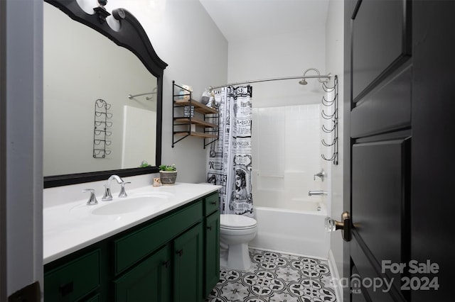
[[[400,262],[404,140],[353,145],[353,225],[373,256]]]

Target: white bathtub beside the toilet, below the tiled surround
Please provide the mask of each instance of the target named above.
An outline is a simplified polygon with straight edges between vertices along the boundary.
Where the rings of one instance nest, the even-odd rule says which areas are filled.
[[[250,247],[327,259],[330,237],[323,203],[302,200],[298,209],[255,206],[255,213],[257,236]]]

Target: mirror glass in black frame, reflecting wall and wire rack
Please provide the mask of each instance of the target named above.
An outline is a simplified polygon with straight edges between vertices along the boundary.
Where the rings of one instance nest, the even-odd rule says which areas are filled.
[[[43,36],[44,176],[155,166],[156,77],[46,3]]]

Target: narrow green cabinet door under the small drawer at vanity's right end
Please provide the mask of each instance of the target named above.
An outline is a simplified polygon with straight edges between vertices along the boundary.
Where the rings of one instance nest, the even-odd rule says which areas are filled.
[[[205,218],[204,244],[204,294],[207,297],[220,280],[220,211]]]

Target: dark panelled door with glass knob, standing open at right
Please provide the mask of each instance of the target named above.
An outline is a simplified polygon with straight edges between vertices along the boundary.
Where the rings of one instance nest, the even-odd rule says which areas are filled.
[[[345,301],[453,301],[454,8],[345,1]]]

